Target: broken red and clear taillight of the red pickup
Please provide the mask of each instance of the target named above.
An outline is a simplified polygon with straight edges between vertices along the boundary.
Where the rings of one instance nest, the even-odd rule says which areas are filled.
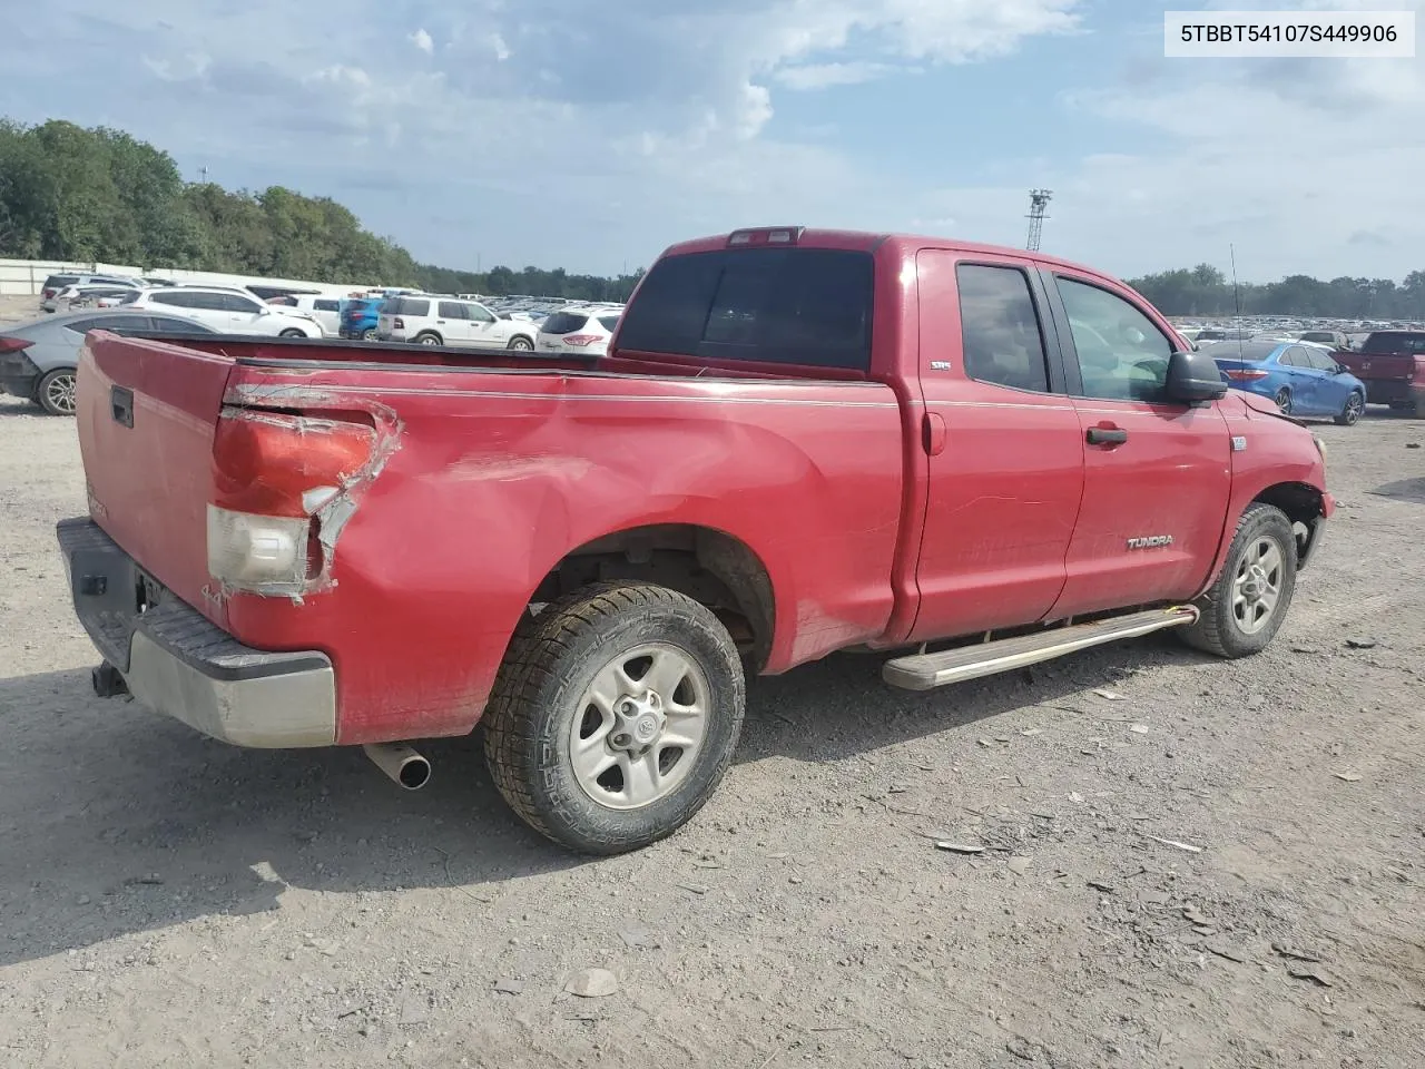
[[[335,540],[342,523],[328,510],[375,452],[369,423],[224,409],[212,440],[208,572],[232,590],[305,593],[322,567],[322,536]]]

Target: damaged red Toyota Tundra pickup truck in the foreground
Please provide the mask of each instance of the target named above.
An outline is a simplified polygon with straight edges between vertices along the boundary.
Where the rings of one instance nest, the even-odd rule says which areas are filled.
[[[78,402],[100,693],[408,787],[412,740],[480,724],[587,852],[698,811],[750,674],[1253,654],[1334,509],[1321,443],[1136,292],[929,238],[675,245],[589,359],[95,331]]]

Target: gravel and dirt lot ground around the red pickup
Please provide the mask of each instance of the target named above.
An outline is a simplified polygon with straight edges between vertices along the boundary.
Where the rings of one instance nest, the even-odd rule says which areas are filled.
[[[0,1062],[1418,1069],[1425,423],[1320,432],[1344,505],[1265,654],[831,659],[752,688],[694,825],[581,861],[472,740],[403,794],[95,698],[74,423],[0,402]]]

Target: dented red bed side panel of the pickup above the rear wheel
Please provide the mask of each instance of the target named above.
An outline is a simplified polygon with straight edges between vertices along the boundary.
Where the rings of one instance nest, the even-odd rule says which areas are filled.
[[[469,731],[532,593],[573,549],[657,523],[741,540],[775,599],[765,670],[885,633],[902,423],[868,382],[294,368],[239,361],[229,402],[365,408],[399,440],[301,599],[234,594],[261,649],[322,649],[339,743]]]

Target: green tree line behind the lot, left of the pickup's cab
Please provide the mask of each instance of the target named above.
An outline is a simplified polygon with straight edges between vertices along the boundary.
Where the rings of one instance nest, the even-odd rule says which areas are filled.
[[[418,264],[329,197],[185,182],[174,158],[121,130],[0,118],[0,258],[135,264],[314,282],[623,301],[638,275]]]

